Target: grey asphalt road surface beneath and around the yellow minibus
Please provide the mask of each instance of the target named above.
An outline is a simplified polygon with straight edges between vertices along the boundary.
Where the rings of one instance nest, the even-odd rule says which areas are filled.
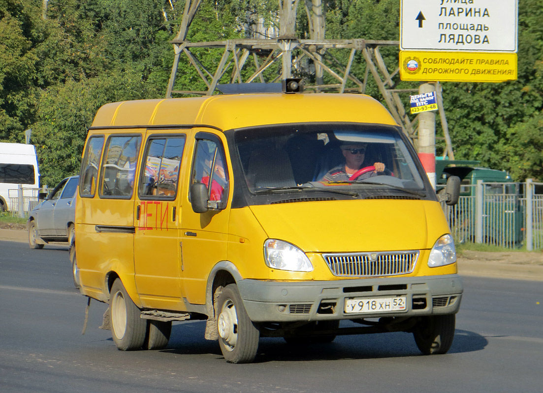
[[[408,333],[291,346],[261,339],[254,364],[228,364],[204,323],[175,323],[166,350],[118,351],[98,328],[106,305],[73,288],[67,248],[0,241],[0,391],[541,392],[543,285],[464,278],[447,355]]]

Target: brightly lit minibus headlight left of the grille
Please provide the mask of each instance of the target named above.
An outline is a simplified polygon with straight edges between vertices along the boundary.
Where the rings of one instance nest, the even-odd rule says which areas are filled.
[[[298,247],[281,240],[268,239],[264,242],[266,265],[273,269],[293,272],[311,272],[313,265],[307,255]]]

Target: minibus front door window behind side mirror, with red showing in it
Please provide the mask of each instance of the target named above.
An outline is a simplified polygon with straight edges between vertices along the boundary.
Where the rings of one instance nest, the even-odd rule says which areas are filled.
[[[210,201],[225,202],[228,196],[228,168],[222,146],[211,140],[197,141],[191,174],[191,184],[193,183],[206,185]]]

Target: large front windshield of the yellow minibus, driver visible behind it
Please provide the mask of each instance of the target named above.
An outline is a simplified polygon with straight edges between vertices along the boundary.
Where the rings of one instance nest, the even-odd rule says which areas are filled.
[[[425,197],[425,184],[399,127],[307,123],[235,130],[251,194],[379,189]]]

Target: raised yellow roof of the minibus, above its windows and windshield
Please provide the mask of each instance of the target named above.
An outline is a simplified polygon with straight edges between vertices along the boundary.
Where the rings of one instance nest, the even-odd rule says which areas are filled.
[[[363,94],[232,94],[113,102],[98,109],[92,128],[347,122],[397,125],[380,102]]]

